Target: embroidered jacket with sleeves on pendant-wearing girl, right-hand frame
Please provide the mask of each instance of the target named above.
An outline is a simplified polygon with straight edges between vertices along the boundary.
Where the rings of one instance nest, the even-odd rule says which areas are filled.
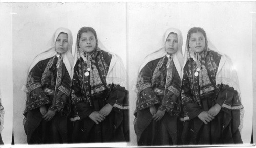
[[[197,72],[196,62],[192,58],[188,59],[182,81],[181,102],[185,115],[181,120],[193,119],[204,111],[201,100],[206,97],[214,97],[215,102],[226,111],[243,108],[238,92],[233,87],[227,84],[216,85],[216,74],[221,57],[222,55],[215,51],[205,50],[200,60],[202,70],[199,71],[198,76],[194,75]]]

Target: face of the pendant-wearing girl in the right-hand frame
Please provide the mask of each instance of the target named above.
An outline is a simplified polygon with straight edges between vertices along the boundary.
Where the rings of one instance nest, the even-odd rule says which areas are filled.
[[[196,53],[203,52],[205,48],[205,38],[201,32],[195,32],[190,35],[189,47]]]

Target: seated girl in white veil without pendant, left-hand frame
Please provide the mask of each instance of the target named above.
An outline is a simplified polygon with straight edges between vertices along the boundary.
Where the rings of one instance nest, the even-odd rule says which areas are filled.
[[[28,144],[67,143],[73,56],[71,31],[59,28],[28,72],[24,128]]]

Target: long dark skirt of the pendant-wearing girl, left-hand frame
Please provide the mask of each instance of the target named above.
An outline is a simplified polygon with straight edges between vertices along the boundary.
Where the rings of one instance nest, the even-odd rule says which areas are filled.
[[[99,111],[106,102],[101,97],[94,98],[94,109]],[[114,108],[106,119],[95,124],[89,117],[80,121],[69,121],[69,143],[128,142],[128,111],[116,111]]]

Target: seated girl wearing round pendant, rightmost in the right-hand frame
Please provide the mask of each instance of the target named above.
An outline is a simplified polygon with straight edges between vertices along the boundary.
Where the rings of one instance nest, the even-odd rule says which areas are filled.
[[[182,81],[183,144],[238,144],[243,116],[237,73],[224,54],[208,48],[205,31],[188,31]]]

